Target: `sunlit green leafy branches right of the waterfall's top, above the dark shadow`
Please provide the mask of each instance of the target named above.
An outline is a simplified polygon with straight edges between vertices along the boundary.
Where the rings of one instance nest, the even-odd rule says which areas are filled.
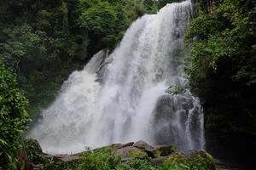
[[[192,20],[186,34],[187,41],[192,42],[191,61],[193,66],[189,68],[189,75],[197,75],[201,72],[200,68],[205,67],[216,70],[218,59],[227,59],[233,56],[232,60],[237,62],[238,56],[247,55],[247,52],[253,53],[253,41],[251,41],[253,30],[250,24],[252,16],[250,12],[242,13],[240,8],[239,4],[227,0],[219,4],[214,14],[201,13]],[[246,49],[247,43],[243,43],[246,40],[250,41],[247,43],[249,43],[248,48],[251,49]],[[254,56],[251,58],[254,59]],[[203,62],[201,62],[202,59]],[[244,58],[240,60],[242,62]],[[239,75],[243,69],[241,65],[237,66],[236,74]],[[203,71],[203,73],[207,73],[207,71]],[[236,74],[234,76],[238,78],[239,76]],[[248,83],[255,81],[253,75],[254,70],[247,71],[247,77],[252,77]]]

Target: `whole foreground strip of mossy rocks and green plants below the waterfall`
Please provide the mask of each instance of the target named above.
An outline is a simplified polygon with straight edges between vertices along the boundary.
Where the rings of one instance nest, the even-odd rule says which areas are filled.
[[[133,146],[119,148],[115,145],[88,150],[76,155],[47,155],[42,152],[35,139],[26,139],[25,149],[32,167],[43,167],[44,170],[215,170],[212,156],[204,151],[182,153],[173,145],[159,146],[154,155],[160,157],[159,163],[148,156],[147,150]],[[160,150],[163,149],[163,150]],[[165,156],[160,156],[163,154]],[[156,157],[156,156],[154,156]],[[125,159],[125,161],[124,161]],[[124,163],[125,162],[125,163]]]

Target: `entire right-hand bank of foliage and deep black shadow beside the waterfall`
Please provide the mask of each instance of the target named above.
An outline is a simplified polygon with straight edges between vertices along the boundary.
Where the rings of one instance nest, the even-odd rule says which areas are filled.
[[[189,84],[204,103],[208,146],[219,148],[209,149],[223,146],[230,156],[245,150],[234,145],[256,144],[255,6],[216,1],[209,14],[201,5],[186,32]]]

